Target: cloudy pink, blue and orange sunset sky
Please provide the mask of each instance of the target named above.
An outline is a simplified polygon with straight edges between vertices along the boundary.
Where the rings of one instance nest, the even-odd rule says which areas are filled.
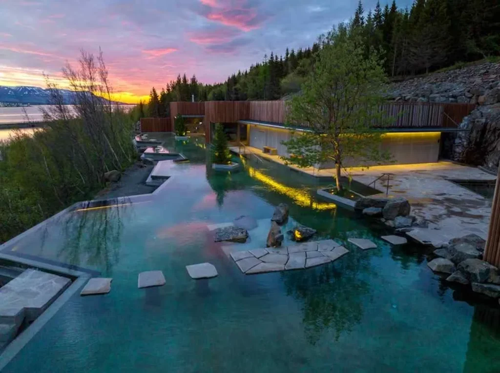
[[[382,5],[385,1],[380,1]],[[397,1],[409,6],[411,0]],[[365,0],[366,9],[376,0]],[[100,46],[123,102],[178,73],[214,83],[271,50],[306,47],[357,0],[0,0],[0,85],[44,86],[83,48]],[[60,81],[61,85],[63,82]]]

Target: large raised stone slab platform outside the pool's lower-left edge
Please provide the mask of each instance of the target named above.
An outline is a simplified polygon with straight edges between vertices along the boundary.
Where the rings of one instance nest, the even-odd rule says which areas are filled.
[[[0,288],[0,323],[35,320],[71,283],[68,278],[27,269]]]

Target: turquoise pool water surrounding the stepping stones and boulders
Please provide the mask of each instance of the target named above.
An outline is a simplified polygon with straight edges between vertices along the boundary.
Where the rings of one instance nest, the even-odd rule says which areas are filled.
[[[105,296],[73,295],[3,372],[500,371],[498,306],[449,288],[421,247],[391,247],[378,239],[383,228],[317,199],[328,182],[267,162],[213,173],[201,138],[166,146],[191,162],[171,164],[153,201],[73,212],[12,248],[113,282]],[[207,224],[268,219],[280,202],[287,226],[378,249],[346,244],[327,265],[241,274]],[[250,231],[244,247],[264,242]],[[185,266],[200,262],[218,277],[191,280]],[[147,270],[162,270],[166,285],[137,289]]]

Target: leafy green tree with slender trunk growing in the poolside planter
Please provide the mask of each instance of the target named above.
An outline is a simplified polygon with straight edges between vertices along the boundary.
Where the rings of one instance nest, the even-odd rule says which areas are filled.
[[[334,161],[339,190],[345,160],[388,159],[380,149],[381,133],[371,127],[381,121],[379,91],[385,81],[378,53],[371,50],[365,55],[357,29],[342,24],[333,29],[323,40],[301,94],[289,101],[287,123],[306,126],[310,132],[283,142],[291,155],[282,159],[299,167]]]

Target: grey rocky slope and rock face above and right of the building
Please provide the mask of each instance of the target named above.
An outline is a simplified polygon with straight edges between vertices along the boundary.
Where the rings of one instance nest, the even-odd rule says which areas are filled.
[[[459,124],[453,159],[490,170],[500,161],[500,63],[486,62],[392,83],[388,96],[396,101],[477,104]]]

